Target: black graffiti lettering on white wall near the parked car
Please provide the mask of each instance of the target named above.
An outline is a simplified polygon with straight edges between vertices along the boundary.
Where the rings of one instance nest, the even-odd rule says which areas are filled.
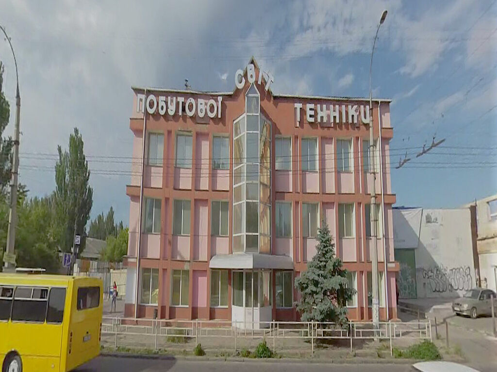
[[[435,293],[468,291],[473,286],[469,266],[449,269],[443,265],[435,265],[422,268],[422,276],[428,283],[428,289]]]

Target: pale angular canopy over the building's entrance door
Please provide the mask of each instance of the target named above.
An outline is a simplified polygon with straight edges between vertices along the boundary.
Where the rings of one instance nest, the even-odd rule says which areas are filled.
[[[289,256],[260,253],[216,254],[209,263],[211,269],[280,269],[293,270]]]

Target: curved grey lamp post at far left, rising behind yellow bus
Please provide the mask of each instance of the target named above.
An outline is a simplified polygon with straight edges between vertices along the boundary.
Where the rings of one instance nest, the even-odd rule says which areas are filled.
[[[17,176],[19,170],[19,120],[21,111],[21,97],[19,95],[19,75],[17,73],[17,60],[15,59],[14,48],[10,42],[5,29],[0,25],[0,30],[2,30],[5,38],[10,45],[10,50],[12,51],[12,56],[14,57],[15,64],[15,78],[17,82],[15,91],[15,127],[14,127],[14,153],[12,160],[12,172],[11,172],[11,182],[10,182],[10,211],[8,215],[8,229],[7,229],[7,246],[5,249],[5,255],[3,258],[4,271],[13,271],[15,269],[15,260],[11,262],[9,256],[11,257],[14,253],[15,244],[15,229],[17,225]]]

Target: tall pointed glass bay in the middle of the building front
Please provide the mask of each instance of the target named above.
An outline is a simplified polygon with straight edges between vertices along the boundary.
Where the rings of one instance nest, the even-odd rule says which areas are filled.
[[[233,252],[271,253],[271,123],[254,85],[233,125]]]

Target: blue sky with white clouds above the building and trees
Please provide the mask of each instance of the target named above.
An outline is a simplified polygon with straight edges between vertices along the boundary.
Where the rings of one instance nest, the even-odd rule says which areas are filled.
[[[20,182],[55,188],[57,145],[78,127],[91,217],[129,221],[131,86],[232,91],[254,56],[278,94],[391,98],[396,205],[452,208],[497,193],[497,3],[0,0],[18,61]],[[15,71],[0,39],[13,135]],[[445,142],[416,158],[432,137]],[[406,156],[412,160],[395,169]],[[109,172],[113,171],[113,172]],[[117,172],[116,172],[117,171]]]

